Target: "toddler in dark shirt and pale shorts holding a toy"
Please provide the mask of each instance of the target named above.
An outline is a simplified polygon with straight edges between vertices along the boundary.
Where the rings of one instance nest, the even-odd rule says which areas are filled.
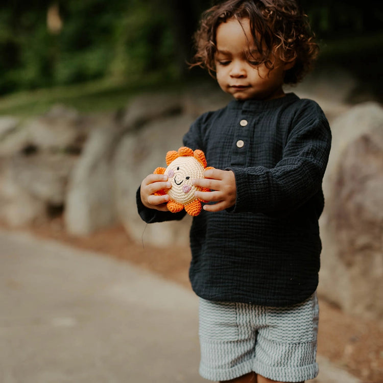
[[[318,374],[316,289],[330,151],[327,119],[312,100],[285,93],[318,53],[294,0],[228,0],[208,9],[193,65],[233,100],[201,115],[183,145],[209,166],[195,185],[207,203],[190,229],[189,276],[200,297],[200,374],[214,381],[301,382]],[[170,148],[173,149],[173,148]],[[167,211],[166,176],[137,192],[141,218]]]

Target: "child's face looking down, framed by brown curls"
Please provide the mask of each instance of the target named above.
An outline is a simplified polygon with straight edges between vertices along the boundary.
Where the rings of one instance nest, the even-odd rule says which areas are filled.
[[[294,63],[275,59],[274,69],[258,64],[259,56],[247,18],[223,22],[217,29],[216,74],[222,90],[237,100],[271,100],[282,97],[284,71]],[[270,60],[274,60],[273,57]]]

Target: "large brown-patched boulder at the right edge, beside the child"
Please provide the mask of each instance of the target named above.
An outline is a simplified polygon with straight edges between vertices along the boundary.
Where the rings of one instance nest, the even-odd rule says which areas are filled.
[[[347,313],[381,319],[383,108],[360,104],[331,128],[318,290]]]

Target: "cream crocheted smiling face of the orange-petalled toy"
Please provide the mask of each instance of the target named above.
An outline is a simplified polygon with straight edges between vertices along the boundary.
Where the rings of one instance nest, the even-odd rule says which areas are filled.
[[[196,178],[203,178],[204,167],[194,157],[178,157],[169,166],[165,173],[172,187],[167,194],[178,203],[186,205],[192,202],[196,197],[197,191],[192,181]]]

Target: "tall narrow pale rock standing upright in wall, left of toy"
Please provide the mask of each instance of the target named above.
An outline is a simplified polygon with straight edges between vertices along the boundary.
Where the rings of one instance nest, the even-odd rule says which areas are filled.
[[[69,233],[87,235],[115,222],[112,169],[121,134],[111,118],[90,132],[68,181],[64,221]]]

